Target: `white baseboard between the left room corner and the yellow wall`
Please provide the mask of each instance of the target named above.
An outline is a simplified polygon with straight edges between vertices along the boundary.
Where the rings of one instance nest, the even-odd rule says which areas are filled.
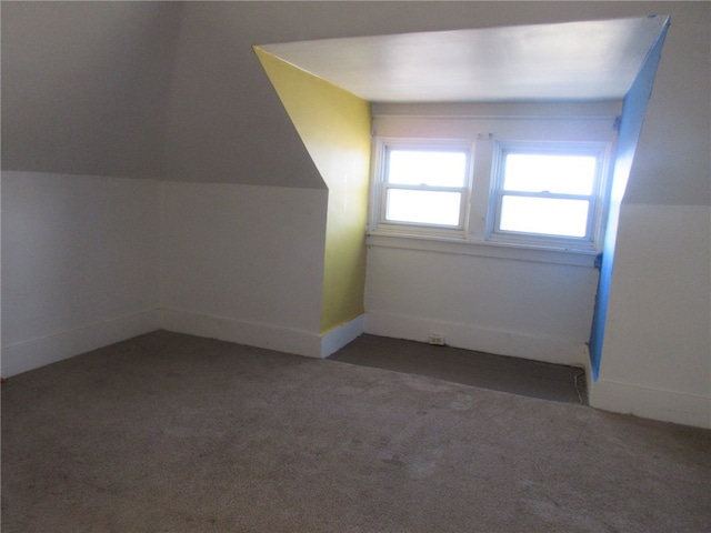
[[[162,328],[168,331],[266,348],[309,358],[321,356],[321,338],[314,332],[200,314],[178,309],[162,309],[160,313],[162,315]]]

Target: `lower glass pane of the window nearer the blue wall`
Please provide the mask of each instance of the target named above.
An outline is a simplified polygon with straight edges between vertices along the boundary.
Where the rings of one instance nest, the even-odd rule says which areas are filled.
[[[502,231],[585,237],[590,209],[587,200],[511,195],[501,200],[499,229]]]

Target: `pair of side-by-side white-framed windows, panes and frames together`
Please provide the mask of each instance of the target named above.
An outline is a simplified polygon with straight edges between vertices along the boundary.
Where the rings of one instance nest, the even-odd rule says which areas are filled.
[[[610,147],[377,138],[371,232],[598,250]]]

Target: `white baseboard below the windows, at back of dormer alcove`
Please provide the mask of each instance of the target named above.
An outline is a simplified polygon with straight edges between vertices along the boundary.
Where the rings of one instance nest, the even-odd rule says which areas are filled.
[[[420,342],[438,333],[454,348],[574,366],[583,366],[588,360],[584,342],[399,314],[365,313],[364,332]]]

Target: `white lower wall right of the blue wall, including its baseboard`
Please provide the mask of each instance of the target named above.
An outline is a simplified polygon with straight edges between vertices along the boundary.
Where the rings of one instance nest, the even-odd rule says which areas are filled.
[[[711,209],[631,204],[620,228],[592,404],[711,428]]]

